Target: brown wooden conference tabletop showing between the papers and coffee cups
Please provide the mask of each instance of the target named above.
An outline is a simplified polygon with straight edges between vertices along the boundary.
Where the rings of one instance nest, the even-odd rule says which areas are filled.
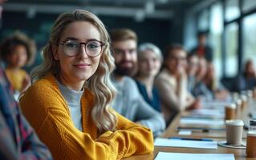
[[[239,109],[237,118],[242,119],[245,122],[246,126],[248,126],[250,117],[248,116],[250,110],[256,110],[255,104],[256,100],[250,99],[248,102],[248,106],[246,108]],[[180,135],[178,134],[177,128],[179,126],[183,126],[180,124],[180,119],[186,115],[189,115],[189,112],[183,112],[181,114],[177,114],[176,118],[173,119],[173,122],[169,125],[167,130],[161,135],[161,138],[169,138],[169,137],[184,137],[184,138],[212,138],[213,140],[219,142],[226,140],[226,130],[208,130],[204,131],[193,131],[191,135]],[[212,127],[212,126],[204,126],[204,127]],[[225,128],[225,126],[222,126]],[[246,141],[246,130],[243,133],[243,141]],[[125,160],[153,160],[156,157],[156,154],[159,152],[173,152],[173,153],[193,153],[193,154],[234,154],[236,160],[255,160],[256,158],[246,158],[246,150],[244,149],[232,149],[226,148],[222,146],[217,146],[217,150],[209,150],[209,149],[196,149],[196,148],[181,148],[181,147],[165,147],[165,146],[155,146],[155,150],[152,154],[144,154],[144,155],[134,155],[129,158],[124,158]]]

